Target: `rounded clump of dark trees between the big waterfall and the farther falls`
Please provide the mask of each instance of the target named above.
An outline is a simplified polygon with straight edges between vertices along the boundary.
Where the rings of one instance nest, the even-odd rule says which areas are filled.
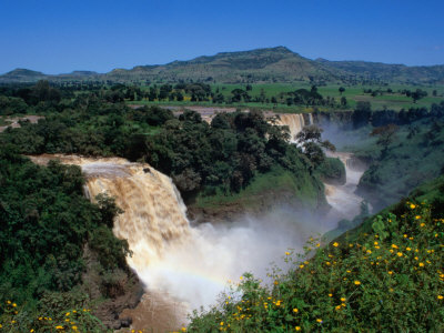
[[[171,174],[185,199],[199,190],[230,194],[245,189],[258,172],[273,165],[309,173],[310,163],[285,133],[260,112],[221,113],[209,127],[199,113],[185,111],[148,138],[144,159]],[[313,180],[314,181],[314,180]]]

